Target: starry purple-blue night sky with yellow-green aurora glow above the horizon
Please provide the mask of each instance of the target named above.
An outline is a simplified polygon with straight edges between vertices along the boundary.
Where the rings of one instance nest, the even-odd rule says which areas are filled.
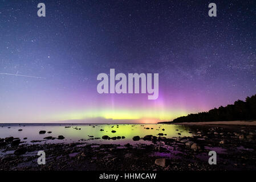
[[[110,68],[159,73],[159,98],[97,93]],[[171,121],[245,100],[255,79],[253,0],[0,0],[2,123]]]

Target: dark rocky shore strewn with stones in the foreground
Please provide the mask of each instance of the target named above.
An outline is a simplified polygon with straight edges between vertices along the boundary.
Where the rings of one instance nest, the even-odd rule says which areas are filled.
[[[64,142],[64,134],[30,142],[25,142],[24,138],[2,137],[0,170],[247,171],[256,169],[255,126],[192,125],[188,129],[189,136],[183,136],[182,130],[175,129],[177,134],[175,137],[168,137],[166,134],[169,125],[157,126],[159,126],[157,134],[138,133],[131,138],[131,142],[127,142],[125,136],[119,135],[119,130],[112,130],[111,137],[104,133],[102,137],[88,136],[88,139],[72,142]],[[60,127],[68,129],[71,126]],[[113,125],[112,129],[118,129],[117,127],[119,125]],[[140,127],[147,131],[155,130],[146,125]],[[76,126],[72,128],[79,130]],[[22,129],[19,129],[19,132],[22,132]],[[44,130],[40,130],[39,133],[39,135],[54,134]],[[54,140],[56,141],[54,143],[48,142]],[[99,140],[102,142],[97,142]],[[42,150],[46,154],[46,164],[38,165],[37,154]],[[208,163],[209,151],[216,151],[216,165]]]

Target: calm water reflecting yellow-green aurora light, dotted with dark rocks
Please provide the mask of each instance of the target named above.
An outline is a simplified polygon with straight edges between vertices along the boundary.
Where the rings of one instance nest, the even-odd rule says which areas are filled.
[[[65,126],[70,126],[66,128]],[[10,128],[9,128],[10,127]],[[149,129],[145,129],[145,128]],[[153,128],[153,129],[151,129]],[[18,131],[22,129],[22,131]],[[79,130],[80,129],[80,130]],[[104,131],[100,131],[103,129]],[[164,129],[164,131],[162,131]],[[40,130],[45,130],[46,134],[39,134]],[[111,131],[115,130],[116,133]],[[178,131],[177,131],[178,130]],[[48,134],[47,131],[52,133]],[[147,141],[139,140],[133,141],[134,136],[143,138],[145,135],[155,135],[163,133],[163,137],[190,137],[189,128],[182,125],[164,125],[164,124],[119,124],[119,125],[82,125],[82,124],[0,124],[0,138],[17,137],[22,142],[30,143],[31,140],[44,140],[44,137],[56,137],[63,135],[65,139],[59,140],[44,140],[40,143],[62,143],[62,142],[78,142],[80,139],[91,143],[146,143]],[[180,133],[181,135],[178,135]],[[103,140],[101,137],[108,135],[108,137],[125,137],[125,139]],[[93,136],[93,137],[90,137]],[[27,139],[23,139],[27,138]],[[100,138],[93,139],[91,138]]]

